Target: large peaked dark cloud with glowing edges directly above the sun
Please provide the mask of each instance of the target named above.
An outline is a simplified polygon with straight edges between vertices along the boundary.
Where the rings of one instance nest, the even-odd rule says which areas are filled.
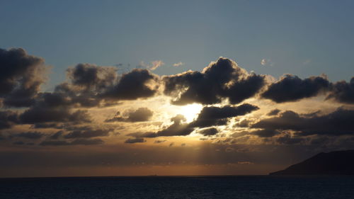
[[[264,76],[248,74],[236,62],[220,57],[202,72],[184,72],[164,76],[164,93],[174,96],[175,105],[214,104],[228,98],[240,103],[254,96],[265,84]]]

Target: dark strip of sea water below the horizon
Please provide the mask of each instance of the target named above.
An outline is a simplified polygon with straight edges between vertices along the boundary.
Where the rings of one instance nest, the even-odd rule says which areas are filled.
[[[354,176],[0,179],[0,198],[354,198]]]

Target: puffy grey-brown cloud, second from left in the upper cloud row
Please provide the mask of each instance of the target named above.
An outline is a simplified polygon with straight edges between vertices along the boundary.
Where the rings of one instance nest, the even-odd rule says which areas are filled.
[[[42,93],[42,101],[48,106],[100,106],[100,97],[112,88],[118,79],[115,67],[101,67],[95,64],[77,64],[67,69],[71,82],[55,87],[53,93]]]

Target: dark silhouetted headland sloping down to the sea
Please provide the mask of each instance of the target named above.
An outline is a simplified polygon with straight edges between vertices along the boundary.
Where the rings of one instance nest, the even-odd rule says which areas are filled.
[[[354,175],[354,150],[319,153],[270,175]]]

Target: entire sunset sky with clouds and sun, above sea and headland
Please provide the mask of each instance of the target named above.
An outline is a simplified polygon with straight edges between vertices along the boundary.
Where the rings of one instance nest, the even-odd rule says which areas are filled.
[[[354,144],[353,1],[1,1],[0,177],[246,175]]]

